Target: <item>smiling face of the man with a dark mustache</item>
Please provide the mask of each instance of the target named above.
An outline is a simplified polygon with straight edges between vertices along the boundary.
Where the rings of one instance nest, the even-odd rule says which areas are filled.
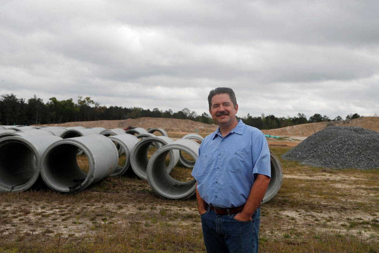
[[[219,126],[228,126],[236,120],[238,104],[233,106],[229,94],[217,94],[212,97],[209,113]]]

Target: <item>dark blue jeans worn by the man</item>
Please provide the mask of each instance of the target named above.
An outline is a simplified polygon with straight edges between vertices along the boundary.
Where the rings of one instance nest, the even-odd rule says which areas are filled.
[[[258,252],[260,207],[252,220],[235,220],[236,214],[219,215],[208,211],[201,215],[204,243],[207,252]]]

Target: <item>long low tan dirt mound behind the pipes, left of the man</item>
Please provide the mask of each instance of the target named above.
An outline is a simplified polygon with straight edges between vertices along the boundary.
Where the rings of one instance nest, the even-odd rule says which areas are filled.
[[[46,124],[41,126],[83,126],[83,127],[104,127],[105,129],[122,128],[128,126],[143,127],[144,129],[161,128],[166,132],[199,132],[211,133],[217,129],[215,124],[205,124],[189,119],[171,119],[171,118],[150,118],[143,117],[138,119],[122,120],[98,120],[98,121],[76,121],[63,124]]]

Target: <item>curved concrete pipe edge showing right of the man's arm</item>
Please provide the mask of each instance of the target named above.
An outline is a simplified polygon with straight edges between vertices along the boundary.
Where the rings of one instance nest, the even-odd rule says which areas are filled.
[[[267,187],[262,203],[270,201],[279,192],[283,182],[283,168],[279,159],[270,151],[271,181]]]

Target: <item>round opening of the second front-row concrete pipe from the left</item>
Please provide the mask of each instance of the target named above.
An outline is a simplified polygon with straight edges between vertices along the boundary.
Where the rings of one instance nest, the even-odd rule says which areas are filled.
[[[76,145],[65,143],[53,147],[46,154],[44,175],[54,189],[67,192],[67,188],[78,187],[87,178],[90,169],[88,157],[84,155],[77,158],[77,151]]]

